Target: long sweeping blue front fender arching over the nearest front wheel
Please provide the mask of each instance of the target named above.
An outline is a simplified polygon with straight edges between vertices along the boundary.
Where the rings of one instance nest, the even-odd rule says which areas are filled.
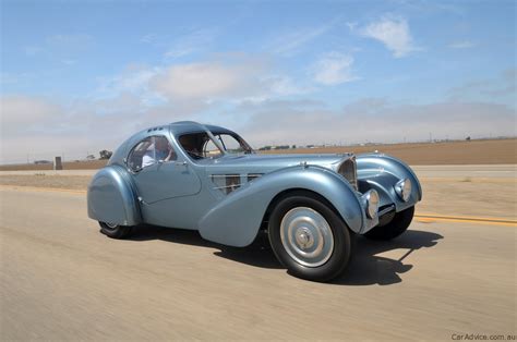
[[[296,166],[267,173],[230,193],[200,220],[200,233],[225,245],[247,246],[255,239],[275,196],[294,188],[325,197],[352,231],[360,232],[364,225],[360,198],[344,178],[321,167]]]

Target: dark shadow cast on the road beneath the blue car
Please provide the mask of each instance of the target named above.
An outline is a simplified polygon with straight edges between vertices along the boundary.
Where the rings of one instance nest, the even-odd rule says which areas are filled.
[[[408,230],[401,236],[393,241],[371,241],[358,236],[354,244],[352,260],[346,273],[330,284],[339,285],[389,285],[401,282],[399,274],[406,273],[413,267],[405,264],[405,259],[422,248],[431,248],[443,239],[442,235],[426,232]],[[129,237],[130,241],[161,240],[199,247],[216,248],[214,255],[236,262],[253,267],[282,269],[284,266],[275,257],[267,234],[260,233],[256,240],[244,248],[229,247],[213,243],[201,237],[197,231],[144,225],[135,228]],[[407,249],[398,259],[377,256],[381,253]]]

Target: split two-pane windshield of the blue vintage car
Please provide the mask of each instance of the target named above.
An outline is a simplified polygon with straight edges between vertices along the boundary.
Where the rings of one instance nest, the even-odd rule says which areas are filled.
[[[225,154],[252,154],[253,150],[240,136],[230,133],[212,132],[215,143],[206,132],[180,136],[179,143],[192,159],[219,158]],[[219,148],[219,146],[223,148]]]

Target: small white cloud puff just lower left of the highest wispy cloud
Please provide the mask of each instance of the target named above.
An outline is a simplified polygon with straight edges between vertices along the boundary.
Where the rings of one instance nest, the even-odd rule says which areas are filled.
[[[328,52],[313,65],[314,81],[323,85],[338,85],[358,80],[352,75],[353,58],[339,52]]]

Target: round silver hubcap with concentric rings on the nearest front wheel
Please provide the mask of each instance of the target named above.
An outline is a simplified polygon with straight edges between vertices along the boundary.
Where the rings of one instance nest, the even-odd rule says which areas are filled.
[[[306,267],[322,266],[334,251],[330,225],[320,212],[308,207],[293,208],[284,216],[280,239],[289,256]]]

